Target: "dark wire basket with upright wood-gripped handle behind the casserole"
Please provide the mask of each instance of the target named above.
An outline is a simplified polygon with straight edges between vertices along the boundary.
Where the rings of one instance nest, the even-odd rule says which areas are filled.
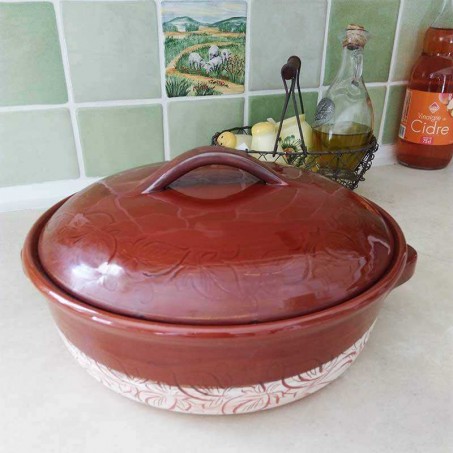
[[[376,137],[372,136],[370,142],[366,146],[361,148],[354,148],[353,150],[307,150],[307,147],[304,143],[299,118],[299,111],[302,114],[304,113],[304,106],[299,84],[300,68],[300,58],[297,56],[292,56],[288,59],[288,62],[282,67],[281,70],[286,97],[274,149],[269,151],[256,151],[253,149],[247,149],[245,150],[245,152],[264,162],[291,165],[312,172],[320,173],[323,176],[326,176],[327,178],[332,179],[333,181],[336,181],[343,186],[353,190],[359,185],[360,181],[365,180],[364,175],[372,165],[374,155],[379,147]],[[289,86],[288,82],[290,82]],[[299,107],[297,105],[295,96],[296,87],[298,91]],[[297,140],[295,144],[293,144],[291,149],[283,149],[282,151],[280,151],[279,147],[280,149],[282,148],[282,141],[280,137],[281,129],[290,100],[292,100],[293,103],[300,139]],[[315,121],[318,119],[319,118],[315,118]],[[251,129],[251,126],[244,126],[234,127],[231,129],[225,129],[221,132],[217,132],[212,137],[212,144],[220,146],[217,140],[223,132],[251,135]],[[299,149],[300,151],[294,151],[294,148]]]

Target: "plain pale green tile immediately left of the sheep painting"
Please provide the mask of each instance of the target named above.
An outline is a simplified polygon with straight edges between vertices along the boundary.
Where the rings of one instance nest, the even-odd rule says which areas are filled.
[[[62,2],[74,98],[78,102],[158,98],[154,2]]]

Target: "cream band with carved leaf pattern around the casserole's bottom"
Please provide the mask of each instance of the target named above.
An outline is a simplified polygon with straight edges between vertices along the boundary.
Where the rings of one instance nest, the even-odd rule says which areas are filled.
[[[346,351],[310,371],[278,381],[228,388],[172,386],[129,376],[96,362],[61,335],[71,354],[91,376],[127,398],[176,412],[225,415],[272,409],[322,389],[351,366],[373,326]]]

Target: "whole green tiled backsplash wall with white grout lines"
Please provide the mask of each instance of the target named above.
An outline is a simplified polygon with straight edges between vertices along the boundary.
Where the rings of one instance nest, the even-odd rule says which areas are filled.
[[[224,128],[279,120],[280,69],[291,55],[302,59],[311,122],[318,97],[338,69],[339,35],[348,23],[360,23],[371,33],[364,79],[375,134],[381,144],[392,144],[410,68],[442,3],[163,1],[0,0],[0,187],[104,176],[207,145]],[[182,3],[190,5],[178,7]],[[179,9],[198,14],[198,22],[178,19]],[[218,55],[220,69],[204,61],[186,68],[191,52],[209,57],[212,36],[219,40],[219,52],[231,54]],[[165,61],[164,41],[172,61]],[[235,64],[242,72],[228,77],[225,72],[222,85],[222,71]],[[184,95],[178,86],[181,68],[191,71],[185,74],[192,87],[187,92],[194,94],[197,86],[211,96],[169,97],[166,75]],[[241,89],[232,82],[238,75]]]

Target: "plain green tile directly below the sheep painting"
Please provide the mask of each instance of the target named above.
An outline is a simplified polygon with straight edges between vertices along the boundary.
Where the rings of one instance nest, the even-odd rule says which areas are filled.
[[[169,105],[171,157],[196,146],[210,145],[219,131],[243,125],[243,99],[180,101]]]

